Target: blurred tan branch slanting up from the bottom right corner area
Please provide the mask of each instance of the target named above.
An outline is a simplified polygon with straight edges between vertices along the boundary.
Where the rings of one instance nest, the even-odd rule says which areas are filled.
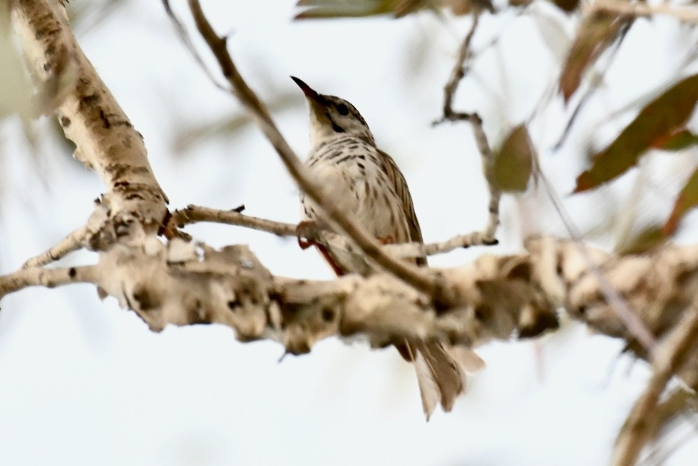
[[[692,348],[698,338],[698,298],[684,310],[684,316],[667,335],[664,343],[657,346],[652,354],[654,375],[647,388],[632,408],[625,427],[616,442],[612,464],[616,466],[635,465],[642,448],[651,438],[652,422],[648,417],[655,412],[659,396],[664,392],[669,379],[677,373],[692,355]]]

